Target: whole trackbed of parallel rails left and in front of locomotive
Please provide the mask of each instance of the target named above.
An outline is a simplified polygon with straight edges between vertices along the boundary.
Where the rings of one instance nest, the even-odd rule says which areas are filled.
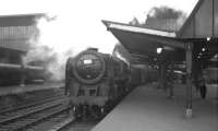
[[[100,121],[69,118],[65,100],[65,97],[55,97],[4,111],[0,114],[0,131],[90,131]]]

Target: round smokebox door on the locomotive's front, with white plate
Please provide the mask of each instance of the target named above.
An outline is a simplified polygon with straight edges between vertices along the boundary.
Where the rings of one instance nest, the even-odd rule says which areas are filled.
[[[97,51],[87,50],[75,58],[73,66],[75,79],[85,84],[99,82],[106,71],[106,62]]]

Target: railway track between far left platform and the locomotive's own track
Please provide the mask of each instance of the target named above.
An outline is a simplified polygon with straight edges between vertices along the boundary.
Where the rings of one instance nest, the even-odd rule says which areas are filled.
[[[20,131],[68,109],[65,98],[0,115],[0,131]]]

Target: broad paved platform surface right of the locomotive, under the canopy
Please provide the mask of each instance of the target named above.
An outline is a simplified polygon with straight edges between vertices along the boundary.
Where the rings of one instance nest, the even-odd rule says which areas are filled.
[[[193,90],[193,118],[185,118],[185,86],[174,98],[155,84],[136,87],[92,131],[218,131],[218,102]]]

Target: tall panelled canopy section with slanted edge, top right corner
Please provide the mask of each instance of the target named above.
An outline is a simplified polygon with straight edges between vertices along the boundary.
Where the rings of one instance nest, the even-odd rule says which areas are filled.
[[[177,33],[181,38],[218,37],[218,0],[198,0]]]

